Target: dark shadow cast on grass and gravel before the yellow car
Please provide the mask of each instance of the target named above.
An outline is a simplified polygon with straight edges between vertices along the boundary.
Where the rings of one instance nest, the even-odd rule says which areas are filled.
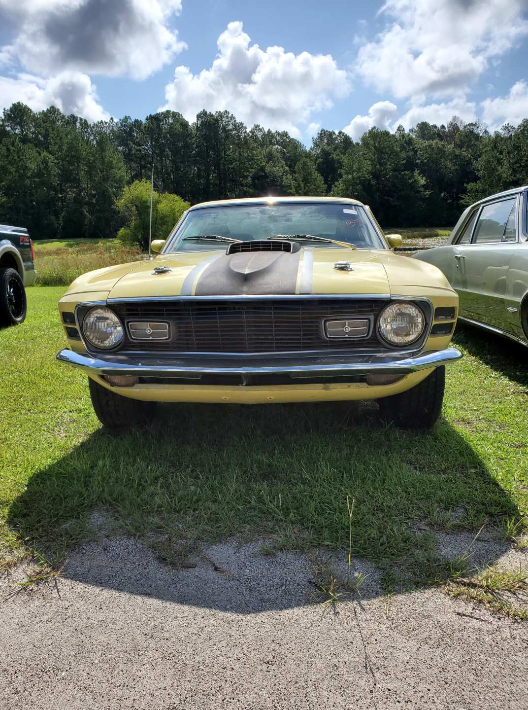
[[[334,575],[368,575],[363,599],[445,581],[481,525],[469,552],[493,563],[506,516],[512,498],[445,420],[413,434],[371,403],[161,405],[147,428],[97,430],[38,471],[8,523],[48,559],[66,550],[66,579],[253,613]]]

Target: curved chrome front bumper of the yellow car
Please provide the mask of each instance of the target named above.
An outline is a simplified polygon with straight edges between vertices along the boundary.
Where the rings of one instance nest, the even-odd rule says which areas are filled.
[[[132,375],[199,379],[204,375],[289,375],[294,379],[317,376],[406,375],[430,367],[446,365],[461,358],[455,348],[430,351],[409,357],[407,354],[319,355],[319,356],[133,356],[108,354],[92,357],[72,350],[61,350],[65,362],[96,375]]]

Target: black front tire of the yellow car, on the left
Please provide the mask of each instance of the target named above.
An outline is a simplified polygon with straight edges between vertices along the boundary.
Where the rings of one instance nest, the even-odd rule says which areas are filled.
[[[155,417],[155,402],[121,397],[97,384],[91,377],[88,378],[88,386],[94,411],[105,427],[124,429],[137,424],[147,424]]]

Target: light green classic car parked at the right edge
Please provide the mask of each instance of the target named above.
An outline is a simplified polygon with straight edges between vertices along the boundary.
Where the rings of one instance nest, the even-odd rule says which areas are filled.
[[[444,246],[414,258],[444,272],[458,293],[458,318],[528,346],[528,187],[466,209]]]

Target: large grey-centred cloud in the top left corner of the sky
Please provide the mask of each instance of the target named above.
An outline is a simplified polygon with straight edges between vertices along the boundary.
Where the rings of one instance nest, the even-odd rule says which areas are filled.
[[[29,72],[69,70],[144,79],[185,48],[169,28],[182,0],[2,0],[14,33],[0,58]]]

